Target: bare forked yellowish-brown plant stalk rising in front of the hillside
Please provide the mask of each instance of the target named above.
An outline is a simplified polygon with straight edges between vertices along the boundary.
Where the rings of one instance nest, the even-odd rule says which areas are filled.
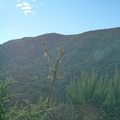
[[[50,99],[51,99],[51,96],[52,96],[52,93],[53,93],[53,88],[55,86],[55,81],[57,80],[57,72],[58,72],[58,68],[60,66],[60,63],[61,63],[61,58],[62,56],[64,55],[65,53],[65,49],[63,48],[58,48],[58,53],[57,53],[57,57],[55,60],[53,60],[52,56],[50,55],[48,49],[47,49],[47,46],[46,46],[46,43],[42,43],[42,46],[43,46],[43,51],[44,51],[44,57],[46,57],[49,61],[52,62],[52,65],[48,65],[46,64],[37,54],[37,52],[35,51],[35,48],[34,46],[31,47],[31,50],[32,50],[32,53],[39,57],[40,60],[42,60],[42,62],[48,67],[49,69],[49,72],[50,74],[48,75],[48,79],[51,79],[52,80],[52,83],[51,83],[51,87],[50,87],[50,93],[49,93],[49,96],[47,98],[47,104],[49,105],[50,103]],[[60,78],[60,77],[59,77]]]

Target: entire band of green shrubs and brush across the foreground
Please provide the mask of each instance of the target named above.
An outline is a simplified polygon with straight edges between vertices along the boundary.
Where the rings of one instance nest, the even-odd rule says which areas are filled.
[[[120,74],[116,69],[113,79],[106,74],[97,77],[83,73],[80,80],[71,81],[66,88],[68,101],[50,100],[40,97],[37,104],[27,100],[10,105],[14,95],[8,87],[12,78],[0,81],[0,120],[119,120],[120,119]]]

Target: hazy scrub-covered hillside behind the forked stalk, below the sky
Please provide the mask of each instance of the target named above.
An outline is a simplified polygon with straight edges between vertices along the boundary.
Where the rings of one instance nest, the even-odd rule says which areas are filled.
[[[58,47],[66,49],[59,70],[65,77],[56,83],[55,94],[59,99],[65,98],[65,86],[71,79],[79,78],[81,72],[94,68],[98,73],[107,71],[112,75],[116,65],[120,68],[120,28],[11,40],[0,45],[0,78],[4,80],[11,75],[18,81],[11,89],[20,94],[18,98],[36,102],[39,95],[46,96],[49,92],[50,81],[46,78],[49,71],[45,66],[48,61],[43,57],[42,42],[47,43],[53,58]],[[31,46],[37,55],[32,54]]]

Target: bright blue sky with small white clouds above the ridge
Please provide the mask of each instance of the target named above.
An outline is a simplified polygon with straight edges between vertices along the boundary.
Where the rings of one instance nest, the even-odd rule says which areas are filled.
[[[120,0],[0,0],[0,44],[120,27]]]

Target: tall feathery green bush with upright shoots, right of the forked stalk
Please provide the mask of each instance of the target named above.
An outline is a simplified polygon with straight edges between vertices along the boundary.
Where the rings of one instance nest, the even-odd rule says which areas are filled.
[[[110,79],[107,74],[99,79],[97,76],[93,71],[92,74],[83,73],[78,82],[72,81],[67,86],[69,100],[74,105],[81,105],[80,112],[83,113],[83,120],[120,119],[118,69],[115,69],[113,79]]]

